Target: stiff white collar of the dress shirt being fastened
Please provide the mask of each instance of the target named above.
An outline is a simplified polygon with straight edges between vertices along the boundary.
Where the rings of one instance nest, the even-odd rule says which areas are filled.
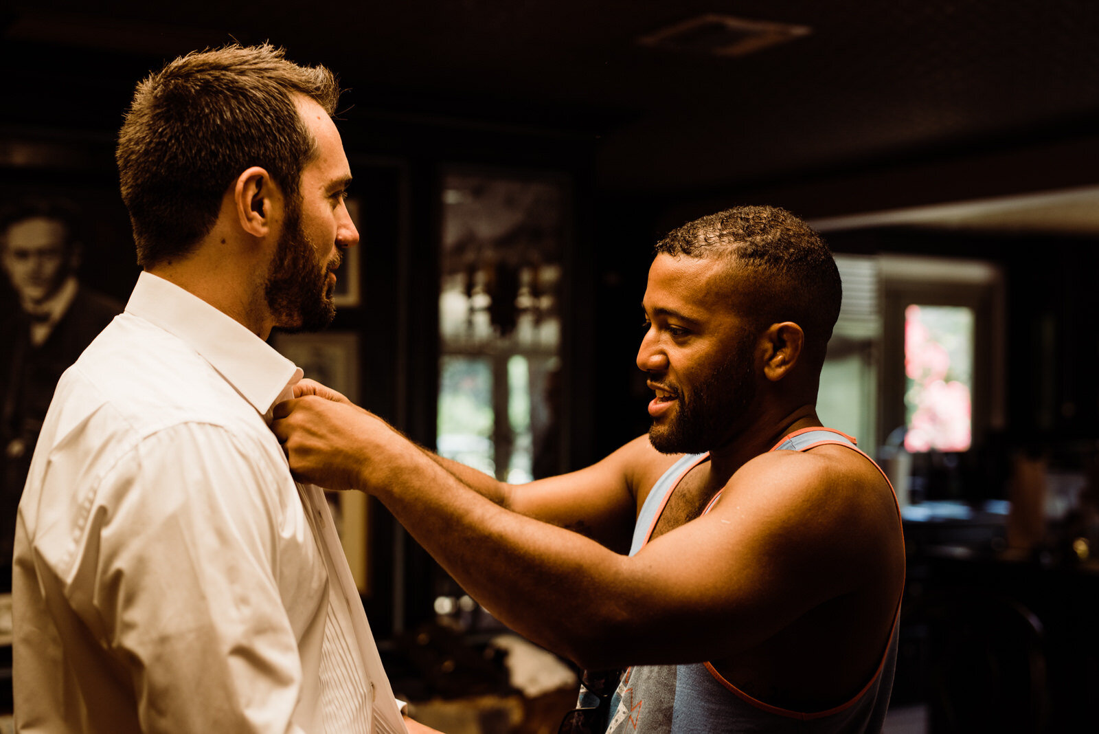
[[[267,413],[302,371],[246,326],[199,297],[151,273],[141,273],[126,313],[179,337],[225,380]]]

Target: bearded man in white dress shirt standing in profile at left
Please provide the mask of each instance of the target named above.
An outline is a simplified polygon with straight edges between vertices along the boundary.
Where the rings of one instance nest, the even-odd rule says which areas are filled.
[[[335,310],[351,170],[323,67],[189,54],[119,135],[143,266],[60,379],[19,508],[21,732],[403,732],[323,496],[267,429],[265,343]]]

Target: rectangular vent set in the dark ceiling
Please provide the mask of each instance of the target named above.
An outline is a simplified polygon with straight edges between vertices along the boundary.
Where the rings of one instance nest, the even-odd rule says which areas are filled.
[[[808,25],[708,13],[637,38],[643,46],[708,56],[747,56],[812,33]]]

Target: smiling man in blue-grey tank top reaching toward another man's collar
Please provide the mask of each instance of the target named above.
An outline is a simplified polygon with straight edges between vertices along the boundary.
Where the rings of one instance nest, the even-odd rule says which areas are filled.
[[[888,480],[817,416],[840,300],[815,232],[732,209],[657,245],[652,427],[593,466],[501,483],[317,383],[275,432],[299,478],[378,497],[512,629],[625,669],[565,731],[877,732],[904,549]]]

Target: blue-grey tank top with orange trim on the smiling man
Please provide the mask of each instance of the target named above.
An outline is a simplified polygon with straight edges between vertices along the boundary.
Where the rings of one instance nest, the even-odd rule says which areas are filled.
[[[771,451],[807,451],[822,444],[850,446],[855,440],[831,429],[808,429],[786,436]],[[866,454],[863,454],[866,456]],[[630,555],[652,535],[660,511],[679,480],[707,454],[677,460],[653,486],[634,526]],[[869,458],[867,456],[867,458]],[[873,460],[873,459],[872,459]],[[875,464],[875,466],[877,466]],[[879,469],[880,470],[880,469]],[[885,476],[885,475],[882,475]],[[888,478],[887,478],[888,481]],[[704,512],[717,501],[711,500]],[[900,509],[898,508],[898,518]],[[898,620],[873,678],[854,698],[828,711],[799,712],[768,705],[726,681],[709,663],[639,665],[625,671],[611,699],[608,734],[665,734],[675,732],[767,732],[768,734],[877,733],[885,723],[897,665]]]

